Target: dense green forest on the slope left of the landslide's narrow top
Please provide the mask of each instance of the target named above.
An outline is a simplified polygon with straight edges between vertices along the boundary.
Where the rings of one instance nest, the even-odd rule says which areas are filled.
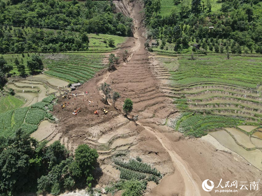
[[[110,1],[0,0],[0,53],[86,50],[86,33],[130,36],[132,20],[113,10]]]

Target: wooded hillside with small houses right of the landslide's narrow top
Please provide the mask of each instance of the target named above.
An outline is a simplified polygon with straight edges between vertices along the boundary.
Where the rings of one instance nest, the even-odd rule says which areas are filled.
[[[174,51],[198,43],[204,53],[262,53],[259,0],[145,0],[149,37]],[[203,51],[202,51],[203,52]]]

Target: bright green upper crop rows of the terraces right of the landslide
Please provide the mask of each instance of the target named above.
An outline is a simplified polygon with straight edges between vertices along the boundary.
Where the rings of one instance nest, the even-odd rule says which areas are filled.
[[[248,88],[262,84],[261,58],[241,58],[205,56],[190,61],[188,57],[179,59],[179,67],[172,74],[175,86],[190,85],[197,82],[226,83]]]

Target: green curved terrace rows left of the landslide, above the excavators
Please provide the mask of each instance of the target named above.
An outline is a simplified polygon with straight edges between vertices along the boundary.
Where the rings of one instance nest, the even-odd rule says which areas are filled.
[[[70,83],[84,83],[91,79],[98,71],[104,69],[102,63],[104,56],[92,55],[82,56],[64,54],[62,59],[52,59],[49,55],[45,57],[44,64],[47,68],[45,74],[60,78]]]

